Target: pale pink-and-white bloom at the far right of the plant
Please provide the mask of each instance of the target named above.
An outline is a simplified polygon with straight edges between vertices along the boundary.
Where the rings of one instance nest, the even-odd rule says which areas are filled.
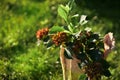
[[[113,37],[113,33],[109,32],[104,36],[104,58],[111,52],[111,50],[115,47],[115,38]]]

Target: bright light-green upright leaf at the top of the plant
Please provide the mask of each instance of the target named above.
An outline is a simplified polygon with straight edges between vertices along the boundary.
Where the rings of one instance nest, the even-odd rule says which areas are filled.
[[[62,17],[65,21],[67,21],[68,7],[60,5],[58,7],[58,15]]]

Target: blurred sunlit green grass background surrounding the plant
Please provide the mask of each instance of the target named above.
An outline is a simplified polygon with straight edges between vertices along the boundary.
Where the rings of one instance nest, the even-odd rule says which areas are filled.
[[[61,23],[59,4],[68,0],[0,0],[0,80],[62,80],[59,49],[37,46],[36,31]],[[108,56],[112,76],[120,80],[120,1],[75,0],[75,12],[87,15],[87,27],[113,32],[116,48]]]

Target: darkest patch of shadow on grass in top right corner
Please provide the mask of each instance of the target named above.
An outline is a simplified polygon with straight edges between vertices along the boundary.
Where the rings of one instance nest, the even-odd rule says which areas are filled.
[[[119,0],[75,0],[76,4],[94,10],[98,16],[118,20],[120,18]]]

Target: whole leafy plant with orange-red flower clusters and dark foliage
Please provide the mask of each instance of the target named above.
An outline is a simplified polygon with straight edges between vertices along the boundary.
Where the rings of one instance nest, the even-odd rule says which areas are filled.
[[[91,28],[81,28],[88,21],[86,15],[80,17],[79,14],[70,14],[73,4],[74,0],[65,6],[58,7],[58,15],[66,25],[40,29],[36,37],[48,48],[64,47],[64,56],[68,59],[74,57],[79,60],[78,66],[89,80],[100,80],[103,75],[109,77],[111,75],[110,65],[106,57],[115,46],[113,33],[109,32],[102,37],[93,32]],[[80,17],[79,21],[75,19],[78,17]]]

